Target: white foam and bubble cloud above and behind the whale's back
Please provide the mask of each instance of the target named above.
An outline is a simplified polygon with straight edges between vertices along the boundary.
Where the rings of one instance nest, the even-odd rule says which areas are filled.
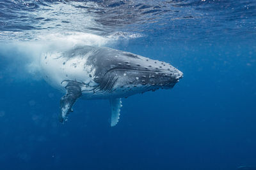
[[[0,43],[0,56],[7,59],[10,64],[8,71],[12,73],[17,69],[18,72],[10,76],[18,79],[40,80],[42,53],[63,52],[76,45],[104,46],[114,42],[112,39],[84,32],[42,34],[36,39],[38,40]]]

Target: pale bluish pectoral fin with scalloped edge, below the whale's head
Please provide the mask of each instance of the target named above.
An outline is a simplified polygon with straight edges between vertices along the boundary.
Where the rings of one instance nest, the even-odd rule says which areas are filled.
[[[119,120],[120,108],[122,107],[121,98],[110,99],[111,105],[111,127],[115,126]]]

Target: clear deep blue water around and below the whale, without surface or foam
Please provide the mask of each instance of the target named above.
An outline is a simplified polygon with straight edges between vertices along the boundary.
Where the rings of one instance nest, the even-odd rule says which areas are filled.
[[[110,127],[108,101],[77,101],[62,125],[57,120],[60,92],[44,81],[13,80],[2,73],[1,167],[256,166],[255,46],[131,42],[116,48],[170,62],[184,78],[172,90],[123,99],[120,122]]]

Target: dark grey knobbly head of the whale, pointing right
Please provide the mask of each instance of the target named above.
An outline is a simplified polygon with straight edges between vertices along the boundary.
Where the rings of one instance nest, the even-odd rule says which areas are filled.
[[[95,94],[128,97],[132,94],[171,89],[183,73],[166,62],[148,59],[134,53],[100,48],[89,57],[95,67]]]

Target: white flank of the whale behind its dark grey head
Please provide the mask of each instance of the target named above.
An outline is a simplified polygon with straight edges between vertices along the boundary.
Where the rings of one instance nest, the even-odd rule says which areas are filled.
[[[90,90],[97,83],[93,81],[95,69],[86,64],[88,56],[65,57],[63,53],[43,53],[40,60],[42,75],[52,87],[65,92],[68,81],[81,83],[83,90]]]

